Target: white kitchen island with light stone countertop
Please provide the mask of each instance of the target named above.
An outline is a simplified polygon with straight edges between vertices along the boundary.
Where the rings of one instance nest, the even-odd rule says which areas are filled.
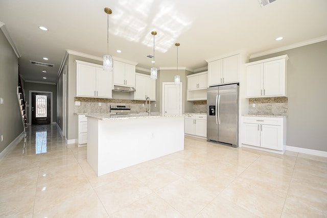
[[[98,176],[184,150],[184,116],[86,115],[87,162]]]

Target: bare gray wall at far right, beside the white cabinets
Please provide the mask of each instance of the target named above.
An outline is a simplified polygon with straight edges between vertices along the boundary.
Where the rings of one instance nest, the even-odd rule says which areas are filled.
[[[327,152],[327,41],[252,58],[287,54],[287,145]]]

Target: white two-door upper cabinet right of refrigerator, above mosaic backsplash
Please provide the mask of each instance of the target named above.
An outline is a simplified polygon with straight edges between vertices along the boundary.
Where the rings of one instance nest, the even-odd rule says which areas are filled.
[[[283,55],[246,64],[246,98],[286,96],[287,60]]]

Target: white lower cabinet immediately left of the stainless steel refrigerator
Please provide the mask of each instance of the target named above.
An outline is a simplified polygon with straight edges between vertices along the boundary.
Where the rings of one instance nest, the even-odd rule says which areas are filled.
[[[206,115],[188,114],[184,117],[184,133],[206,137]]]

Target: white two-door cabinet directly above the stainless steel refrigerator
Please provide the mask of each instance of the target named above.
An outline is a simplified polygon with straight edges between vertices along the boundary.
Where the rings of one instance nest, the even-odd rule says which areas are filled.
[[[208,86],[239,82],[240,55],[208,62]]]

